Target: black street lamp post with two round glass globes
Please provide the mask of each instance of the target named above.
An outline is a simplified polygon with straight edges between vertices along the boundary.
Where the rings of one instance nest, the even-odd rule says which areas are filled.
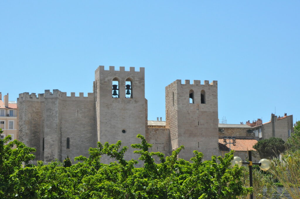
[[[252,151],[248,151],[248,156],[249,156],[249,162],[243,162],[243,160],[235,156],[233,160],[231,161],[231,166],[233,167],[234,165],[238,165],[241,167],[243,164],[249,166],[249,180],[250,180],[250,187],[253,187],[253,179],[252,179],[252,165],[259,165],[259,168],[262,171],[267,171],[270,168],[270,161],[267,159],[261,159],[259,162],[252,162]],[[250,194],[250,199],[253,199],[253,193]]]

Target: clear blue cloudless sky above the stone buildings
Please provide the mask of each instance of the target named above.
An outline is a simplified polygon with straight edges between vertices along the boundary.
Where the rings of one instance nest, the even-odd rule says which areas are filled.
[[[300,1],[0,1],[0,91],[92,92],[94,71],[145,67],[148,120],[165,86],[218,81],[219,118],[300,120]]]

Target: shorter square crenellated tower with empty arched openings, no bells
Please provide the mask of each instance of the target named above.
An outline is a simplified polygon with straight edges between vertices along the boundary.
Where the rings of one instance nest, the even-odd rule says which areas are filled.
[[[166,87],[166,128],[170,129],[172,150],[184,145],[179,158],[190,160],[193,150],[204,159],[220,155],[218,150],[217,81],[176,80]]]

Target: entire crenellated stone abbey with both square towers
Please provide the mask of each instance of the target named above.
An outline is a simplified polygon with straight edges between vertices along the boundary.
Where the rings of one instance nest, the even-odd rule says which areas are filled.
[[[22,93],[18,98],[19,140],[36,148],[36,159],[46,162],[68,155],[88,156],[97,142],[122,141],[129,146],[126,159],[137,159],[131,144],[140,143],[137,134],[153,144],[150,150],[166,155],[184,145],[179,158],[189,160],[193,150],[205,159],[218,150],[217,81],[176,80],[166,87],[166,122],[148,121],[145,99],[145,69],[115,70],[110,66],[95,71],[93,93],[67,96],[59,90],[44,94]],[[148,125],[149,123],[149,125]],[[111,160],[102,157],[102,162]]]

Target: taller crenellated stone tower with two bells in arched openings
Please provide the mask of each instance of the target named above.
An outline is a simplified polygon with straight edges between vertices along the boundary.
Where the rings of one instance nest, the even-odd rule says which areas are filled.
[[[140,143],[136,136],[146,133],[146,99],[145,99],[145,68],[136,71],[130,67],[115,70],[110,66],[104,70],[99,66],[95,70],[94,93],[96,101],[97,141],[102,144],[116,144],[122,141],[122,147],[128,146],[125,159],[137,159],[135,149],[130,145]],[[111,159],[103,156],[101,162],[109,163]]]

